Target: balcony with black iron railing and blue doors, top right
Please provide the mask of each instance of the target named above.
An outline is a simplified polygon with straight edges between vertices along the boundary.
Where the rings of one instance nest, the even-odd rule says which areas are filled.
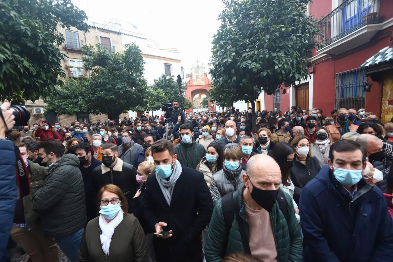
[[[319,54],[339,54],[365,44],[382,29],[380,0],[347,0],[318,22]]]

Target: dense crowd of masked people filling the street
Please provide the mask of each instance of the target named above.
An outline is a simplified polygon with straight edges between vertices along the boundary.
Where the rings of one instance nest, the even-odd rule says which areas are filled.
[[[10,235],[31,261],[393,260],[393,123],[173,108],[11,133],[31,192]]]

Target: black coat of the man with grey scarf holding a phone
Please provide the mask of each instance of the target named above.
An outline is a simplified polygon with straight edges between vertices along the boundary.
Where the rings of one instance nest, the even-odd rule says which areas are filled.
[[[168,206],[156,175],[147,178],[143,211],[149,228],[165,222],[164,230],[172,230],[171,238],[153,237],[157,262],[202,261],[201,233],[209,224],[213,201],[201,172],[182,165],[182,173],[174,186]]]

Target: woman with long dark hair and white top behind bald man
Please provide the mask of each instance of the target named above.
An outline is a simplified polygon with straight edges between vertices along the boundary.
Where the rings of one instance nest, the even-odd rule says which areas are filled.
[[[276,144],[270,153],[270,156],[274,158],[281,170],[281,185],[280,188],[283,192],[288,194],[292,198],[292,203],[295,208],[295,216],[300,223],[299,208],[296,202],[293,200],[295,185],[292,183],[289,177],[289,170],[292,167],[292,161],[295,157],[294,149],[286,142],[280,142]]]

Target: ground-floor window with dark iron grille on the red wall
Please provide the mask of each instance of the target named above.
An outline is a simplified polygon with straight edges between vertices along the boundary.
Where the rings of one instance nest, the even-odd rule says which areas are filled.
[[[367,82],[362,68],[336,74],[335,108],[364,108],[366,93],[363,84]]]

